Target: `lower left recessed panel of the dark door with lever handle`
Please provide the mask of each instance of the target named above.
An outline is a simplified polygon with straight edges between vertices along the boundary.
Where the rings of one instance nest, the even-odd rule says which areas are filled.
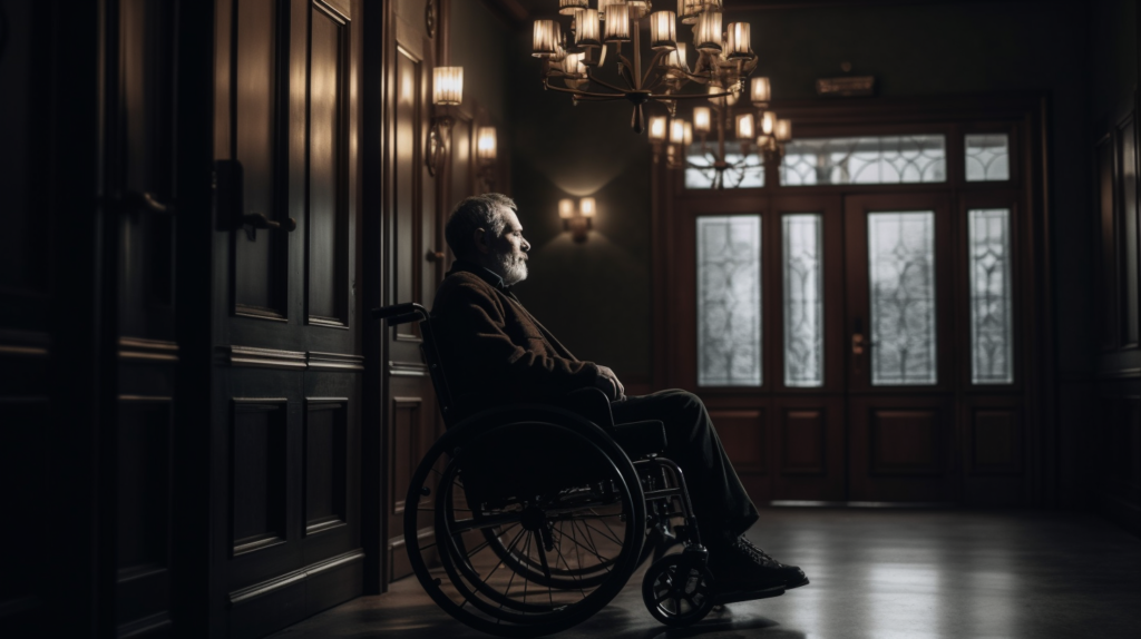
[[[285,401],[234,404],[234,551],[285,538]]]

